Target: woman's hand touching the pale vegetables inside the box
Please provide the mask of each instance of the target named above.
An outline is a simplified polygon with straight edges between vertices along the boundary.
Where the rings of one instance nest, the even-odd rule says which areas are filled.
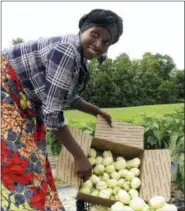
[[[92,166],[86,156],[75,159],[76,173],[83,181],[87,181],[92,174]]]

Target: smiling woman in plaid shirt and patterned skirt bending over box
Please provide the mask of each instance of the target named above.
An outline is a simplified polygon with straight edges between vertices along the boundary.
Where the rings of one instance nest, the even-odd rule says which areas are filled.
[[[74,156],[86,181],[91,165],[72,137],[63,110],[68,106],[111,117],[78,93],[89,74],[86,61],[106,54],[122,34],[122,19],[96,9],[79,22],[80,33],[17,45],[2,57],[2,209],[64,210],[47,159],[45,129]]]

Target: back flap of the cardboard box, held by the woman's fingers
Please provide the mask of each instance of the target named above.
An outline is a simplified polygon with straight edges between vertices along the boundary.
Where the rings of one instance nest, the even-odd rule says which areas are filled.
[[[112,120],[113,127],[101,117],[97,117],[95,137],[120,142],[140,149],[144,148],[144,128],[139,125]]]

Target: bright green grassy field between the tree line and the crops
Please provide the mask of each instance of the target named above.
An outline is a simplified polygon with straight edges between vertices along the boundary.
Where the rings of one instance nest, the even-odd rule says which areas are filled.
[[[105,108],[104,111],[108,112],[113,119],[128,121],[131,120],[136,124],[142,121],[142,115],[162,117],[164,114],[170,114],[175,112],[176,109],[183,108],[184,104],[166,104],[166,105],[150,105],[150,106],[136,106],[125,108]],[[79,124],[86,124],[89,122],[95,122],[96,119],[86,113],[68,110],[65,111],[65,117],[68,122],[75,121]]]

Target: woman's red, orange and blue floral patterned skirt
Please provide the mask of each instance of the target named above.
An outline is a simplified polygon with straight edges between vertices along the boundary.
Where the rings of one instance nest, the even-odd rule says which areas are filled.
[[[1,210],[62,210],[45,127],[15,71],[1,58]]]

